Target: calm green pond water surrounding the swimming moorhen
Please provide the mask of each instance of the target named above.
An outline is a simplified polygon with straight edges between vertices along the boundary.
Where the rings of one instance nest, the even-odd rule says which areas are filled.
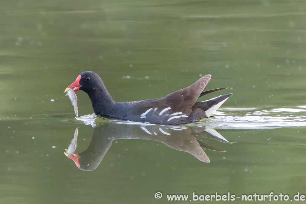
[[[301,202],[305,22],[306,2],[291,0],[2,1],[0,203]],[[228,89],[203,100],[233,95],[208,121],[159,126],[95,117],[78,91],[75,118],[64,90],[88,70],[115,101],[206,74],[205,90]],[[74,162],[63,152],[76,128]]]

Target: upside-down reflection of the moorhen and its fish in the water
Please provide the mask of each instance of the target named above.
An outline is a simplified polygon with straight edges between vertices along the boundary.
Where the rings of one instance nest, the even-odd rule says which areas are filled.
[[[74,135],[74,138],[76,137],[77,131]],[[202,142],[200,140],[201,138],[230,143],[214,129],[205,127],[104,123],[95,127],[85,151],[80,153],[70,152],[71,155],[67,153],[65,155],[72,159],[79,169],[92,171],[98,167],[112,142],[116,139],[147,139],[158,141],[173,149],[188,152],[203,162],[210,162],[203,149],[225,152],[225,150],[212,147]],[[76,144],[76,139],[71,141],[69,147],[74,147],[74,144]]]

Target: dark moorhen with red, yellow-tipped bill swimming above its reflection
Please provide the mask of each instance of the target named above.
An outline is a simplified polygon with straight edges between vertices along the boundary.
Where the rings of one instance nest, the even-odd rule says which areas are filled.
[[[150,124],[180,125],[210,117],[232,94],[220,95],[207,101],[196,100],[218,88],[203,91],[211,75],[205,75],[189,87],[180,89],[163,98],[133,102],[115,102],[103,81],[95,72],[82,72],[69,89],[88,94],[95,114],[102,117]]]

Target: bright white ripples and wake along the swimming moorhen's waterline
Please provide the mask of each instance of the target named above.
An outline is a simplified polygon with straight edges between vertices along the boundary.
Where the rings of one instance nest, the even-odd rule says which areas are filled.
[[[297,109],[299,108],[299,109]],[[282,127],[301,127],[306,126],[306,106],[297,106],[297,108],[224,108],[218,109],[208,121],[187,124],[187,126],[205,126],[214,129],[274,129]],[[305,109],[301,109],[305,108]],[[83,121],[86,125],[95,127],[97,122],[105,120],[95,114],[81,116],[76,118]],[[140,124],[132,121],[108,120],[117,124]]]

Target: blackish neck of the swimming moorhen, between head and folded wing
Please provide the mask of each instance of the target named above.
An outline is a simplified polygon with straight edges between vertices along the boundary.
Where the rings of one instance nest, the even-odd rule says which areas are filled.
[[[114,109],[114,101],[103,83],[88,93],[88,96],[95,114],[111,117],[110,114]]]

